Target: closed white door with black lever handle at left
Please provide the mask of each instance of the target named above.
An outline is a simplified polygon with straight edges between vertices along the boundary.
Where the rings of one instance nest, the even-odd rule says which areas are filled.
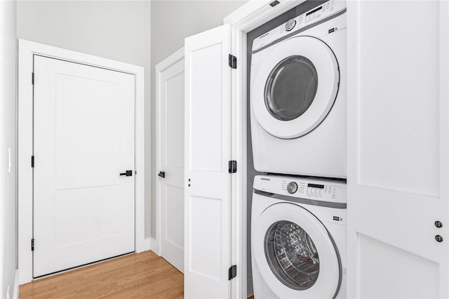
[[[134,103],[134,75],[34,55],[34,277],[135,250]]]

